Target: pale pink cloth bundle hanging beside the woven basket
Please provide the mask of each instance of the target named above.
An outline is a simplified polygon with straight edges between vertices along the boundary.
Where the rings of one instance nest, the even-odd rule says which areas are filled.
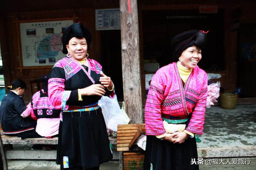
[[[220,82],[212,83],[207,86],[208,96],[206,107],[210,108],[211,105],[214,105],[217,102],[217,98],[220,96]]]

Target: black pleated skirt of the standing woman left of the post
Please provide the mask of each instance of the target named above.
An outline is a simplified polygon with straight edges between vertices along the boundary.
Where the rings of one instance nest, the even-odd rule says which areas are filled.
[[[56,163],[84,169],[112,159],[110,142],[101,108],[94,111],[64,112],[60,123]]]

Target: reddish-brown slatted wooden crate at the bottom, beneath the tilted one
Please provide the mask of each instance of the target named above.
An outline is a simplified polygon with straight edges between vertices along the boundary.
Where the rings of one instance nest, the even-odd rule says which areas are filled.
[[[143,170],[144,156],[143,151],[124,151],[123,170]]]

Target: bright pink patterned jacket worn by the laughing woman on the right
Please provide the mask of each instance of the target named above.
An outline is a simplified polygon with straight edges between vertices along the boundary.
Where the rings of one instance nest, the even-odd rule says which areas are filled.
[[[160,68],[153,76],[145,106],[146,135],[166,133],[162,117],[185,119],[187,131],[203,134],[207,99],[207,74],[196,66],[182,86],[176,63]]]

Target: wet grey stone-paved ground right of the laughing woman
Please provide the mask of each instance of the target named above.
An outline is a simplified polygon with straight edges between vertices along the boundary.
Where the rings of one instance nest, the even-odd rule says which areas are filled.
[[[256,105],[235,109],[207,108],[204,135],[198,147],[256,146]]]

